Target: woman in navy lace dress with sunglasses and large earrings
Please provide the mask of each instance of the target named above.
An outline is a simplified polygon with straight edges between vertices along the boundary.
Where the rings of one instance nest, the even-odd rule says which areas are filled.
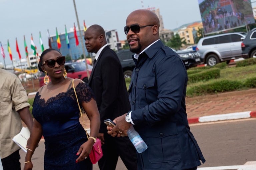
[[[32,154],[42,135],[45,139],[44,169],[90,170],[89,153],[99,132],[100,115],[90,87],[80,79],[74,80],[77,97],[90,119],[90,138],[79,122],[79,109],[72,86],[64,67],[65,57],[55,49],[45,50],[38,64],[39,70],[51,81],[42,86],[33,103],[35,118],[30,135],[24,170],[31,170]],[[47,72],[47,73],[46,73]],[[47,83],[48,82],[48,83]]]

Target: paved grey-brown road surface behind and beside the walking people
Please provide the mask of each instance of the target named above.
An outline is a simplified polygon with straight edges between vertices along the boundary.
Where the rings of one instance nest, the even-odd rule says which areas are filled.
[[[247,161],[256,161],[256,119],[229,120],[222,122],[200,123],[190,125],[206,159],[200,167],[243,165]],[[21,162],[25,152],[20,151]],[[33,155],[34,170],[43,170],[44,141]],[[21,163],[22,167],[24,163]],[[93,165],[99,170],[98,165]],[[126,170],[119,159],[118,170]],[[256,167],[255,167],[256,169]]]

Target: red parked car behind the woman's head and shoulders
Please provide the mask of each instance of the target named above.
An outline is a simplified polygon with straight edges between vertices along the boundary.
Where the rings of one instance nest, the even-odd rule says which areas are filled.
[[[86,66],[84,62],[73,62],[73,63],[65,63],[65,69],[67,71],[68,77],[72,79],[81,79],[85,83],[88,83],[88,76],[86,71]],[[88,65],[89,73],[91,74],[92,66]],[[39,77],[39,85],[40,87],[44,84],[44,73],[41,73]]]

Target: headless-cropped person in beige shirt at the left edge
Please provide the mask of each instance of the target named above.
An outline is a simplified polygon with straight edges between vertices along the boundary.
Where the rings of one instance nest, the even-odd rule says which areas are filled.
[[[12,140],[22,128],[21,120],[31,131],[33,118],[30,114],[26,90],[19,78],[0,69],[0,157],[4,170],[20,170],[20,147]]]

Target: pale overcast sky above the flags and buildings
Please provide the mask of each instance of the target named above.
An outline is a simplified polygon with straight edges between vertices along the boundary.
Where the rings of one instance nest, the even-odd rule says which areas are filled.
[[[201,20],[198,0],[143,0],[143,3],[141,0],[76,0],[81,27],[85,20],[87,27],[98,24],[105,30],[116,29],[119,40],[126,39],[123,32],[126,17],[132,11],[141,9],[142,5],[144,8],[160,9],[165,29],[172,30],[183,24]],[[46,49],[49,48],[47,29],[50,35],[56,35],[56,27],[59,33],[64,33],[65,25],[69,30],[74,22],[77,25],[73,0],[0,0],[0,41],[6,55],[5,63],[11,63],[7,51],[8,39],[13,58],[18,60],[16,37],[21,56],[25,58],[23,35],[31,53],[31,33],[37,49],[41,49],[39,44],[39,31],[41,31]],[[2,55],[0,55],[0,63],[3,63]]]

